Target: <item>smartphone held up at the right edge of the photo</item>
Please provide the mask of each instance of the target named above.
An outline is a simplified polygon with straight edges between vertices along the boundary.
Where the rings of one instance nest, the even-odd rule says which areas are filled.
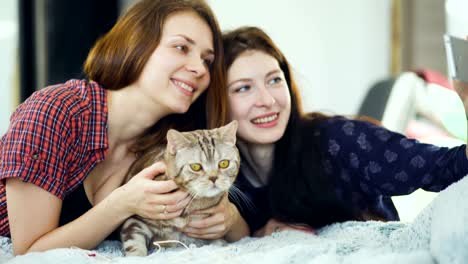
[[[444,35],[449,76],[468,83],[468,40]]]

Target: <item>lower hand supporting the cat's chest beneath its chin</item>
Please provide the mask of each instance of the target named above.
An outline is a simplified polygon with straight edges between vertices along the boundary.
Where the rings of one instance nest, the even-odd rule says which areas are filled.
[[[240,217],[237,207],[229,201],[227,194],[218,205],[194,211],[192,215],[208,216],[200,220],[190,221],[181,231],[188,236],[202,239],[223,238],[231,229],[236,219]]]

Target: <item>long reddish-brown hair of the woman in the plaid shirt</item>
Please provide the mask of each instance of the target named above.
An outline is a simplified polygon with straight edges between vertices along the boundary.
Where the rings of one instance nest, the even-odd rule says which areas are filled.
[[[100,38],[84,63],[88,79],[108,90],[119,90],[134,83],[141,75],[152,52],[159,45],[164,22],[176,12],[193,11],[210,27],[215,59],[210,67],[208,89],[187,113],[169,115],[157,122],[133,145],[141,152],[165,140],[167,131],[214,128],[227,121],[227,91],[222,37],[211,8],[203,0],[141,0],[119,18],[114,27]]]

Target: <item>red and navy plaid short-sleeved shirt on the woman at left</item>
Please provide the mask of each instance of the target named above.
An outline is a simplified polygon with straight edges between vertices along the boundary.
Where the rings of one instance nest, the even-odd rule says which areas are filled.
[[[13,113],[0,140],[0,235],[10,233],[6,178],[63,199],[106,155],[106,90],[70,80],[35,92]]]

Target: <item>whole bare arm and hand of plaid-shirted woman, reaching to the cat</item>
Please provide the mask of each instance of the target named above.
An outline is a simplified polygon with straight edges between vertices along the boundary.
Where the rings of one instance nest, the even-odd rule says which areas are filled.
[[[92,249],[131,215],[153,219],[179,216],[189,199],[181,191],[169,193],[177,188],[173,181],[152,180],[164,171],[162,163],[144,169],[84,215],[60,227],[62,201],[59,198],[32,183],[7,179],[8,217],[14,253],[72,246]]]

